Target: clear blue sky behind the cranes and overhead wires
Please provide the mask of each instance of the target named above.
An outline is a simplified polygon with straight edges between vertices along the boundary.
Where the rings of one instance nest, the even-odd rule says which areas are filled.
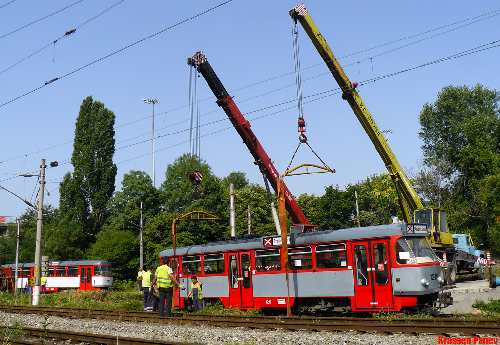
[[[10,1],[0,0],[0,36],[5,35],[0,38],[0,72],[48,45],[0,74],[0,185],[20,197],[35,202],[36,178],[15,177],[16,174],[36,174],[42,158],[47,163],[58,161],[58,167],[47,169],[48,200],[45,195],[45,203],[57,206],[58,182],[72,170],[69,159],[74,123],[82,100],[89,95],[116,115],[117,189],[123,174],[130,170],[143,170],[152,176],[151,105],[142,99],[159,99],[154,108],[158,187],[167,164],[190,151],[186,59],[198,50],[205,51],[221,82],[235,95],[236,104],[279,172],[290,161],[298,133],[296,107],[286,109],[296,103],[284,103],[296,98],[288,10],[299,1],[233,0],[78,71],[223,0],[124,0],[82,25],[119,2],[83,0],[25,28],[21,27],[77,0]],[[500,39],[500,15],[495,15],[500,13],[498,1],[309,1],[305,5],[353,82],[377,79]],[[496,12],[484,15],[492,11]],[[476,20],[479,21],[472,23]],[[458,28],[464,24],[469,25]],[[443,28],[434,30],[439,27]],[[73,28],[77,28],[76,32],[58,39]],[[370,49],[426,31],[429,32]],[[58,41],[50,44],[55,39]],[[304,69],[302,95],[336,89],[333,77],[301,27],[299,42]],[[500,89],[499,56],[500,47],[495,47],[359,87],[380,129],[392,130],[389,144],[404,168],[414,169],[415,161],[422,156],[418,138],[422,105],[433,102],[446,85],[482,83],[490,89]],[[57,77],[62,78],[43,86]],[[43,87],[15,99],[40,86]],[[304,102],[316,98],[309,97]],[[200,103],[202,125],[225,118],[200,128],[202,158],[219,177],[243,171],[250,182],[262,184],[262,177],[236,131],[229,128],[216,132],[230,123],[215,105],[202,78],[200,99],[204,100]],[[281,103],[284,104],[272,107]],[[304,104],[303,114],[309,144],[337,172],[287,178],[285,183],[295,196],[320,196],[325,186],[339,185],[343,189],[370,174],[386,172],[340,94]],[[174,132],[178,133],[168,135]],[[145,142],[136,144],[140,141]],[[130,144],[135,145],[121,148]],[[317,163],[317,159],[301,147],[294,163]],[[0,216],[15,216],[25,208],[21,200],[0,190]]]

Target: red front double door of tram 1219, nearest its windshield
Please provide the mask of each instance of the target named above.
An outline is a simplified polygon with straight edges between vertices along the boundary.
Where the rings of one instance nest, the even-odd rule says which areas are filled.
[[[387,240],[353,242],[356,308],[393,308]]]

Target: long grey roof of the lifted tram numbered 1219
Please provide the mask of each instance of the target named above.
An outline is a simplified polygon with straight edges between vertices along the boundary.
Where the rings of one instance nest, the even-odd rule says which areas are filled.
[[[360,228],[346,228],[339,230],[316,231],[302,234],[288,234],[290,237],[289,246],[309,245],[312,243],[329,243],[349,240],[362,240],[383,238],[389,236],[405,235],[406,223],[386,224],[377,226],[368,226]],[[175,249],[175,255],[205,254],[217,252],[230,252],[245,249],[260,249],[263,246],[263,240],[269,238],[280,238],[279,235],[262,235],[257,238],[249,239],[230,239],[227,241],[217,241]],[[267,246],[266,249],[280,248],[281,244]],[[159,253],[159,257],[173,256],[173,249],[165,249]]]

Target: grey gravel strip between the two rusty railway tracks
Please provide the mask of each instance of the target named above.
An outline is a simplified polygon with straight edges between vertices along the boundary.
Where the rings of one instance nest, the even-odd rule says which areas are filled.
[[[153,323],[114,322],[107,320],[68,319],[50,316],[49,329],[87,334],[103,334],[120,337],[166,340],[199,344],[262,344],[262,345],[354,345],[354,344],[404,344],[435,345],[438,337],[404,334],[357,334],[356,332],[287,332],[245,330],[242,328],[207,327],[188,325],[156,325]],[[0,323],[5,326],[43,328],[45,319],[41,315],[0,313]]]

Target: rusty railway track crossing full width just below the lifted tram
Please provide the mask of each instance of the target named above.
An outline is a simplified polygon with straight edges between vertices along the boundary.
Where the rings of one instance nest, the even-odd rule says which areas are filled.
[[[177,313],[172,318],[160,318],[155,313],[127,312],[112,310],[84,310],[75,308],[0,306],[1,312],[43,314],[61,317],[111,319],[117,321],[151,323],[189,323],[194,325],[224,325],[248,329],[288,330],[288,331],[329,331],[381,334],[435,334],[466,336],[500,336],[500,321],[493,319],[453,319],[453,318],[319,318],[319,317],[267,317],[203,315]]]

